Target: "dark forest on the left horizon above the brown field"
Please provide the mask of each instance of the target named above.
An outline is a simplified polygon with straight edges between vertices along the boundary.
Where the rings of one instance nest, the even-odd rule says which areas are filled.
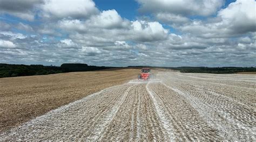
[[[85,72],[107,68],[113,67],[88,66],[84,63],[63,63],[60,67],[43,65],[10,65],[0,63],[0,78],[29,75],[46,75],[68,72]]]

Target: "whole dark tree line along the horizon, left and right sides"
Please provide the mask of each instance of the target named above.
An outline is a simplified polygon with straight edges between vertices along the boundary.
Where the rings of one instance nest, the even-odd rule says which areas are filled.
[[[143,68],[144,66],[129,66],[129,68]],[[150,66],[146,66],[150,67]],[[0,63],[0,78],[46,75],[68,72],[86,72],[92,70],[109,69],[114,67],[88,66],[85,63],[63,63],[60,67],[43,65],[10,65]],[[238,72],[256,72],[255,67],[150,67],[179,70],[181,73],[213,73],[213,74],[232,74]]]

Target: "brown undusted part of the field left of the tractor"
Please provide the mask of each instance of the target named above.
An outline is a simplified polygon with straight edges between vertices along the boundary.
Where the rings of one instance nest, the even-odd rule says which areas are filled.
[[[102,89],[136,79],[139,69],[106,69],[0,79],[0,133]]]

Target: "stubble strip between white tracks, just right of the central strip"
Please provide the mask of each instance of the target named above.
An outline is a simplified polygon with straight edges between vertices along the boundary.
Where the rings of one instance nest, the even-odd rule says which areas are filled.
[[[169,111],[169,119],[178,140],[221,140],[217,130],[209,126],[183,96],[162,83],[152,84],[151,88]]]

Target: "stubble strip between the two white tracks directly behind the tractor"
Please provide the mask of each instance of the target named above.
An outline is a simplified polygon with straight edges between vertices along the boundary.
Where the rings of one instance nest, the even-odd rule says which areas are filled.
[[[158,119],[153,102],[146,91],[146,82],[140,82],[130,90],[117,115],[105,129],[103,139],[164,140],[164,128],[159,125]]]

